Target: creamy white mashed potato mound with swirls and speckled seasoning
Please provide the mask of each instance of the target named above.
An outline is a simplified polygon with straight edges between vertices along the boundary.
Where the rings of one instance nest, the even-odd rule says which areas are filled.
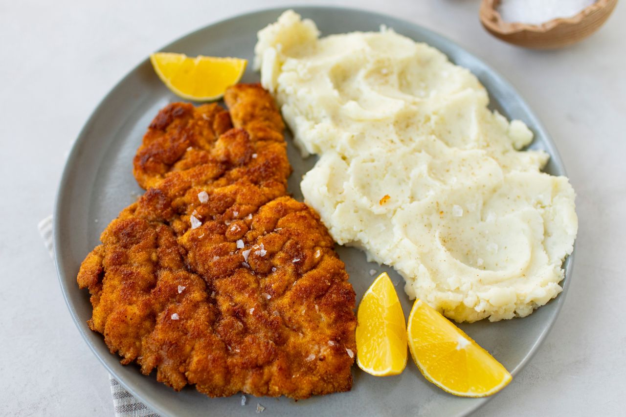
[[[302,192],[339,244],[456,321],[528,316],[562,291],[572,186],[519,151],[531,131],[488,110],[468,70],[385,28],[319,38],[292,11],[255,53],[303,155],[319,155]]]

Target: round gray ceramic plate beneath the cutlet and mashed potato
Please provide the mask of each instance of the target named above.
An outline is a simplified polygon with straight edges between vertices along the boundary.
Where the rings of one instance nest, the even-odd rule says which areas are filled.
[[[189,55],[239,56],[252,61],[256,33],[274,22],[284,9],[270,9],[245,14],[200,29],[163,48],[164,51]],[[552,140],[541,123],[500,75],[480,59],[458,45],[420,26],[381,14],[353,9],[296,8],[305,18],[313,19],[322,34],[348,31],[376,31],[386,24],[398,33],[423,41],[446,53],[456,64],[469,68],[486,86],[493,108],[508,118],[518,118],[535,132],[532,148],[541,148],[552,159],[546,171],[564,175],[565,170]],[[245,73],[244,82],[258,81],[252,70]],[[375,378],[354,367],[354,388],[349,393],[332,394],[295,402],[287,398],[252,398],[240,405],[240,396],[211,399],[187,387],[176,393],[157,383],[155,375],[139,373],[135,365],[122,366],[118,356],[109,353],[101,334],[90,331],[86,321],[91,317],[87,291],[76,285],[76,274],[85,255],[98,244],[100,232],[123,207],[136,199],[140,188],[132,172],[131,161],[141,142],[146,126],[156,112],[177,97],[163,86],[146,59],[120,81],[100,103],[81,131],[69,155],[59,186],[54,211],[54,248],[59,280],[76,326],[93,353],[126,389],[163,416],[254,414],[257,402],[266,407],[265,414],[327,416],[421,415],[456,416],[471,413],[486,399],[451,396],[426,382],[413,361],[403,374]],[[289,158],[294,167],[289,182],[290,192],[301,198],[299,180],[315,160],[303,160],[295,151],[287,133]],[[337,248],[346,262],[357,301],[371,284],[369,270],[386,270],[394,282],[401,281],[387,267],[366,262],[357,249]],[[513,375],[533,356],[550,330],[565,300],[572,274],[572,257],[566,266],[565,290],[557,299],[524,319],[490,323],[488,321],[461,326],[484,348],[488,349]],[[404,313],[408,316],[411,302],[398,284]]]

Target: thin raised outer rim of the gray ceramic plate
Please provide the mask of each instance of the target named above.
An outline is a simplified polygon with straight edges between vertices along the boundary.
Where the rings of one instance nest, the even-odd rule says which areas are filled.
[[[292,4],[292,5],[287,5],[287,6],[277,6],[277,7],[270,7],[270,8],[257,8],[257,9],[252,9],[251,11],[248,11],[246,13],[233,14],[230,17],[220,19],[218,21],[207,24],[205,26],[201,26],[200,28],[197,28],[197,29],[193,29],[192,31],[185,33],[182,36],[179,36],[178,38],[173,39],[168,44],[158,49],[158,51],[165,51],[165,49],[170,48],[172,44],[178,43],[180,41],[184,41],[187,38],[191,38],[202,31],[212,28],[213,26],[218,26],[220,24],[227,24],[229,22],[236,21],[237,19],[250,18],[257,14],[280,13],[282,11],[286,11],[289,9],[293,9],[294,11],[296,11],[296,13],[306,13],[307,11],[315,11],[315,10],[319,11],[322,9],[326,9],[329,11],[360,13],[360,14],[369,15],[371,17],[387,19],[390,21],[399,21],[405,25],[413,26],[414,28],[419,28],[420,31],[423,31],[424,33],[428,34],[428,36],[430,36],[431,38],[436,38],[436,39],[439,39],[440,41],[444,41],[448,45],[452,46],[454,49],[461,51],[461,53],[463,53],[465,56],[475,59],[475,61],[478,61],[483,66],[483,68],[489,71],[490,78],[493,78],[494,80],[498,81],[498,83],[500,83],[506,90],[509,90],[513,94],[516,95],[516,98],[517,98],[518,104],[520,105],[521,110],[524,111],[527,115],[529,115],[532,120],[533,129],[535,130],[535,135],[540,134],[544,138],[543,142],[545,143],[546,148],[547,148],[546,152],[550,155],[550,160],[552,160],[555,163],[555,166],[558,167],[560,171],[562,171],[562,175],[567,177],[567,170],[565,168],[565,165],[563,164],[560,154],[558,153],[557,146],[554,143],[552,136],[548,134],[548,131],[546,130],[545,126],[543,126],[543,123],[541,122],[540,118],[535,114],[535,112],[528,105],[528,103],[526,103],[526,100],[523,98],[523,95],[520,94],[520,92],[511,84],[511,82],[507,78],[505,78],[505,76],[501,75],[500,72],[494,70],[490,66],[490,64],[485,62],[485,60],[479,58],[478,56],[476,56],[476,54],[469,52],[466,48],[459,45],[456,41],[449,39],[447,36],[444,36],[436,31],[426,28],[422,26],[421,24],[414,23],[413,21],[409,21],[407,19],[398,18],[396,16],[392,16],[391,14],[379,13],[377,11],[372,11],[370,9],[359,9],[359,8],[351,8],[351,7],[345,7],[345,6],[332,6],[332,5],[300,6],[297,4]],[[448,56],[448,54],[446,54],[446,56]],[[100,363],[110,373],[110,376],[113,376],[113,378],[115,378],[129,393],[135,396],[135,398],[141,401],[141,403],[148,406],[148,408],[155,411],[155,413],[160,414],[160,416],[169,416],[169,415],[172,415],[170,414],[169,410],[162,409],[160,408],[160,406],[157,406],[156,404],[151,403],[151,401],[146,399],[145,396],[143,396],[143,394],[139,393],[134,388],[133,384],[128,384],[126,383],[124,378],[120,378],[120,375],[117,373],[116,369],[108,363],[110,361],[110,358],[108,358],[109,361],[107,361],[105,356],[102,356],[100,352],[98,351],[98,349],[96,349],[95,344],[93,344],[90,341],[87,335],[90,334],[92,331],[86,325],[86,322],[83,322],[80,319],[80,317],[78,316],[78,312],[76,311],[76,308],[73,306],[72,302],[69,299],[70,289],[68,286],[66,286],[64,282],[63,265],[65,264],[65,261],[63,257],[61,256],[59,249],[58,249],[61,247],[61,237],[59,235],[61,221],[60,221],[60,217],[57,214],[61,212],[61,210],[63,210],[63,195],[64,195],[64,192],[66,192],[67,183],[69,181],[69,178],[72,175],[71,166],[74,164],[74,160],[76,160],[77,158],[76,156],[76,153],[78,152],[77,150],[80,147],[81,143],[83,143],[86,140],[86,136],[88,136],[89,134],[91,125],[95,123],[96,118],[101,113],[101,109],[109,101],[110,97],[113,96],[118,90],[120,90],[121,86],[125,83],[125,81],[128,78],[130,78],[141,66],[145,65],[149,60],[150,60],[150,57],[147,56],[146,58],[142,59],[139,63],[135,64],[133,68],[128,70],[125,73],[125,75],[119,81],[115,83],[113,88],[108,90],[106,95],[103,96],[103,98],[101,98],[100,101],[98,101],[98,104],[95,106],[94,110],[91,111],[90,116],[87,118],[87,120],[85,121],[85,124],[83,125],[80,132],[76,136],[76,139],[74,140],[71,150],[69,151],[68,157],[66,158],[66,161],[64,163],[63,172],[61,173],[61,178],[59,180],[59,185],[58,185],[58,188],[56,191],[56,197],[54,200],[53,250],[54,250],[54,265],[55,265],[56,274],[59,280],[59,284],[61,286],[61,292],[63,293],[63,299],[65,301],[66,306],[68,307],[69,313],[73,319],[74,324],[78,328],[78,331],[80,332],[81,337],[83,338],[83,341],[86,342],[91,352],[96,356],[96,358],[98,358],[98,361],[100,361]],[[476,76],[476,74],[474,75]],[[488,93],[490,93],[489,90],[487,91]],[[560,294],[557,295],[557,297],[555,297],[555,299],[550,300],[550,303],[556,304],[556,306],[554,307],[555,311],[553,313],[553,317],[543,327],[543,330],[540,332],[539,336],[535,339],[535,341],[533,342],[533,345],[528,350],[528,353],[526,353],[524,358],[521,359],[521,361],[515,366],[515,368],[511,369],[510,371],[511,375],[515,376],[515,374],[520,372],[521,369],[525,368],[528,362],[530,362],[530,360],[538,352],[539,348],[545,341],[546,336],[550,333],[550,331],[552,331],[552,328],[555,325],[555,322],[557,322],[558,316],[560,315],[560,312],[563,307],[563,302],[565,302],[565,297],[567,296],[567,292],[572,281],[575,253],[576,253],[576,242],[574,242],[573,244],[572,253],[568,255],[563,261],[563,269],[565,269],[565,275],[562,281],[560,281],[559,283],[562,286],[563,290],[562,292],[560,292]],[[114,359],[117,359],[117,358],[118,357],[116,356]],[[115,364],[120,365],[120,362],[118,360],[115,360]],[[484,397],[484,398],[477,398],[476,399],[477,401],[472,406],[468,407],[463,413],[459,415],[467,416],[471,413],[474,413],[477,409],[484,406],[488,401],[490,401],[490,399],[494,398],[496,395],[498,395],[498,393],[488,396],[488,397]]]

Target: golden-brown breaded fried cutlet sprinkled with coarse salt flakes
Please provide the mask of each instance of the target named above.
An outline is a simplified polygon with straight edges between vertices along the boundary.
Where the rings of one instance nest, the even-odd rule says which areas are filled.
[[[146,193],[83,261],[91,329],[174,389],[307,398],[347,391],[355,294],[317,214],[287,197],[284,125],[237,85],[217,105],[174,103],[134,160]]]

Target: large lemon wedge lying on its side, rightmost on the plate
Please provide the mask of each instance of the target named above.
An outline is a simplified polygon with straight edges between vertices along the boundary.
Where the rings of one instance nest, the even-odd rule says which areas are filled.
[[[409,350],[419,371],[448,393],[485,397],[512,379],[491,354],[419,299],[411,309],[407,332]]]

